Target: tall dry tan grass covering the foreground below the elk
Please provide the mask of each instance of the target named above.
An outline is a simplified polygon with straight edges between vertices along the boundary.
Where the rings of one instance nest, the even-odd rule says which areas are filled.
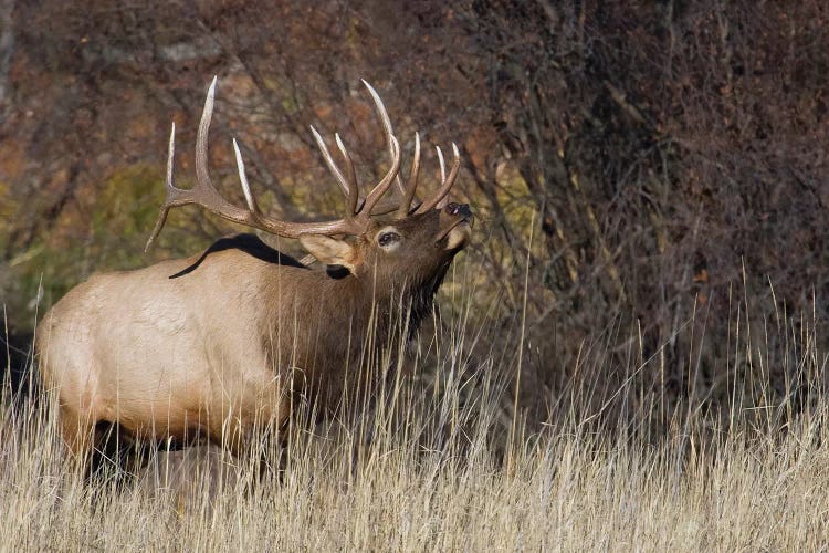
[[[466,290],[469,298],[473,289],[466,282],[447,290]],[[580,392],[550,398],[555,416],[531,427],[512,409],[520,361],[494,348],[469,355],[480,352],[493,331],[470,322],[471,302],[464,298],[454,299],[460,309],[421,331],[410,347],[411,366],[396,373],[372,408],[294,432],[281,480],[275,470],[253,478],[250,460],[200,446],[154,453],[133,478],[111,470],[84,481],[63,460],[53,418],[43,407],[48,398],[35,405],[7,394],[0,411],[0,547],[828,546],[829,401],[820,384],[827,356],[817,349],[817,330],[808,320],[798,321],[798,332],[790,332],[785,315],[778,325],[787,333],[780,342],[787,344],[785,358],[798,371],[783,395],[764,387],[768,342],[743,317],[728,366],[756,382],[746,376],[732,383],[730,406],[717,408],[704,395],[691,394],[665,414],[663,427],[650,431],[637,421],[653,419],[664,390],[657,387],[648,401],[623,385],[597,408],[584,386],[574,385]],[[515,351],[524,346],[514,338]],[[601,351],[601,344],[594,349]],[[641,352],[630,357],[630,382],[643,364],[659,363]],[[592,365],[581,373],[598,375],[601,355],[585,358]],[[605,416],[613,401],[626,416]]]

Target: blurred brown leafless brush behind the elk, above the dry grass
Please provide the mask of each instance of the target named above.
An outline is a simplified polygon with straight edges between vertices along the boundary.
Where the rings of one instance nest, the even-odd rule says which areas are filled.
[[[363,182],[387,168],[360,79],[405,171],[414,131],[458,143],[453,194],[478,223],[442,309],[463,314],[465,366],[503,371],[531,428],[576,396],[659,429],[683,406],[798,405],[822,382],[797,354],[826,351],[829,312],[820,0],[0,0],[4,364],[91,273],[244,230],[185,208],[143,252],[170,123],[186,187],[214,74],[214,180],[242,204],[237,137],[281,218],[343,209],[309,124],[343,135]],[[424,164],[429,189],[433,152]]]

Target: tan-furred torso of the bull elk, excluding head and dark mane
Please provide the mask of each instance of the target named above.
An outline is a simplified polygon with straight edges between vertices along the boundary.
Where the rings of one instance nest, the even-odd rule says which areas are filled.
[[[170,278],[198,259],[92,276],[41,322],[41,375],[59,392],[64,437],[74,450],[102,420],[143,438],[185,439],[198,431],[231,444],[227,434],[239,427],[281,426],[294,368],[315,389],[339,388],[321,375],[344,368],[351,356],[347,343],[337,347],[307,334],[318,334],[315,320],[354,313],[340,311],[354,279],[269,263],[240,249],[212,252],[196,270]],[[297,336],[300,328],[304,335]]]

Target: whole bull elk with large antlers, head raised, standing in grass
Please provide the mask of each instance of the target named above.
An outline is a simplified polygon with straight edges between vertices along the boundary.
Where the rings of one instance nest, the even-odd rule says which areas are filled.
[[[431,310],[452,259],[470,239],[471,211],[468,205],[448,202],[460,167],[454,145],[448,173],[438,148],[442,181],[437,192],[422,202],[414,199],[419,138],[416,134],[403,185],[400,145],[380,97],[365,84],[391,157],[390,168],[365,198],[343,140],[336,135],[344,169],[312,127],[346,197],[345,216],[336,220],[287,222],[264,215],[235,140],[246,209],[213,188],[208,131],[216,79],[199,124],[191,189],[172,182],[174,124],[167,199],[147,248],[171,208],[195,204],[224,219],[298,239],[327,269],[306,267],[252,234],[241,234],[188,259],[93,275],[71,290],[41,321],[36,347],[42,380],[56,395],[60,431],[75,459],[88,461],[102,439],[102,424],[156,444],[207,437],[242,455],[256,440],[261,421],[285,427],[300,394],[321,413],[336,408],[358,379],[354,374],[349,379],[349,367],[354,371],[367,352],[389,345],[392,311],[407,314],[411,336]],[[395,198],[384,199],[392,186]],[[367,341],[372,331],[375,337]]]

